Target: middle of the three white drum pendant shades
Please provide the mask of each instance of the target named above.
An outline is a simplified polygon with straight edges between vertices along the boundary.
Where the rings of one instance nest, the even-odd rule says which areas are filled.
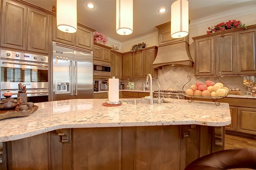
[[[116,33],[129,35],[133,29],[133,0],[116,0]]]

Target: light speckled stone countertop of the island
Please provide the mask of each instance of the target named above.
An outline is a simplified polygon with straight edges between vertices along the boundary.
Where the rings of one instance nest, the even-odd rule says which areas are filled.
[[[128,100],[128,99],[120,99]],[[133,101],[134,99],[130,99]],[[62,128],[156,125],[225,126],[231,121],[227,103],[164,99],[161,105],[103,106],[106,99],[74,99],[36,103],[25,117],[0,120],[0,142],[13,141]]]

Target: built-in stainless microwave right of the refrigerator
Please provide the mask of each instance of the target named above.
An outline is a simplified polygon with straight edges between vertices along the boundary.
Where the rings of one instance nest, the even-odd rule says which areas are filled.
[[[93,63],[93,75],[96,76],[110,76],[110,63]]]

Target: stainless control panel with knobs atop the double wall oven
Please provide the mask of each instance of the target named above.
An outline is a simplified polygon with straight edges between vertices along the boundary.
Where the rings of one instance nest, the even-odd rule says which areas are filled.
[[[17,51],[9,51],[9,50],[1,50],[1,59],[48,63],[48,56],[22,53]]]

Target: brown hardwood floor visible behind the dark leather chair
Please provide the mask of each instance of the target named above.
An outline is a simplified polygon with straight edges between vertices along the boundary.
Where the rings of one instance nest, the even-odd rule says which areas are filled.
[[[225,149],[234,148],[256,148],[256,139],[252,137],[243,137],[233,134],[225,135]],[[232,170],[250,170],[247,168],[239,168]]]

